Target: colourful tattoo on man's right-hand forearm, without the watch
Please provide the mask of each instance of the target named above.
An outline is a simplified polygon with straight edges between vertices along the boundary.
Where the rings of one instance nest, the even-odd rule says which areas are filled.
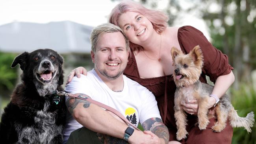
[[[145,130],[149,130],[159,138],[163,138],[165,143],[169,142],[169,131],[168,128],[163,124],[160,118],[149,118],[142,124]]]

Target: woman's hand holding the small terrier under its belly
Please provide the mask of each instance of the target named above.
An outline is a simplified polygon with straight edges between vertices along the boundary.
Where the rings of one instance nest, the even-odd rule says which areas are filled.
[[[198,112],[197,100],[190,100],[188,102],[182,103],[182,109],[189,114],[196,114]]]

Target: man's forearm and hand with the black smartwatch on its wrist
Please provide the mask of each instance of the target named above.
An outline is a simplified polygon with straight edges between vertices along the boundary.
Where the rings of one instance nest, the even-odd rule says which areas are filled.
[[[124,132],[128,126],[98,105],[77,98],[68,98],[66,105],[75,120],[88,129],[123,139]],[[141,141],[147,142],[151,139],[150,135],[135,129],[128,142],[130,144],[139,144]]]

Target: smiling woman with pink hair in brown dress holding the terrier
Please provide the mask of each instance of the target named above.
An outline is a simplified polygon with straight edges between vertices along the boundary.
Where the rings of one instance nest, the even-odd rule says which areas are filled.
[[[167,16],[161,11],[150,10],[132,1],[122,1],[111,12],[109,22],[124,30],[130,41],[131,55],[124,74],[147,87],[156,96],[158,108],[165,125],[169,128],[170,140],[176,140],[176,124],[174,119],[174,92],[176,86],[171,74],[171,48],[174,46],[184,53],[189,53],[196,45],[200,45],[204,55],[204,67],[200,81],[206,83],[206,75],[215,83],[212,94],[221,98],[234,82],[232,66],[228,57],[214,48],[202,32],[191,27],[167,27]],[[83,68],[70,72],[69,81],[74,74],[86,74]],[[208,108],[213,107],[217,99],[209,97]],[[205,130],[195,126],[198,105],[195,100],[184,103],[183,109],[191,115],[187,118],[186,139],[180,142],[193,143],[231,143],[233,129],[227,124],[221,133],[213,133],[211,127],[216,122],[210,119]]]

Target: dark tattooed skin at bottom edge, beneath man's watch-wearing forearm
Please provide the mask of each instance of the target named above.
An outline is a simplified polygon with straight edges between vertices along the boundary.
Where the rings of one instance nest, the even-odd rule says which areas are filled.
[[[96,133],[96,135],[100,139],[102,144],[128,144],[128,142],[121,138],[112,137],[110,135],[105,135],[102,133]]]

